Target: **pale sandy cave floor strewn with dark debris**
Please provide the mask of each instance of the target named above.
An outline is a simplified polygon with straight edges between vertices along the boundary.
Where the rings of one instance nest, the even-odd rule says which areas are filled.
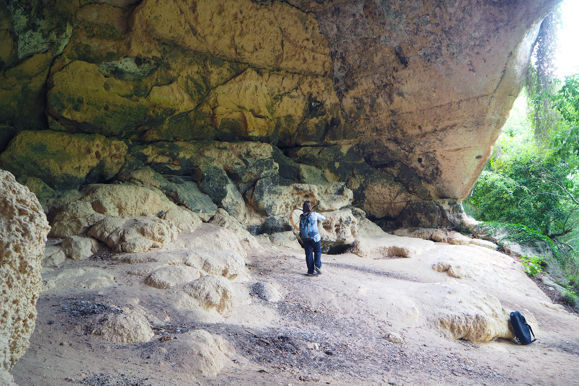
[[[178,290],[146,286],[144,277],[126,274],[129,264],[107,254],[47,270],[43,276],[76,268],[85,275],[43,292],[14,380],[20,386],[579,385],[577,314],[553,305],[509,256],[437,243],[412,258],[323,255],[323,275],[309,277],[302,250],[263,246],[246,258],[250,280],[236,286],[272,283],[282,300],[252,298],[222,317],[182,307]],[[471,277],[434,271],[441,258],[460,261]],[[109,285],[83,288],[89,275]],[[474,344],[446,337],[438,315],[468,303],[475,291],[536,319],[537,341]],[[103,317],[115,307],[146,309],[164,328],[148,343],[110,343],[86,333],[87,304]],[[470,307],[482,306],[473,301]],[[204,376],[199,356],[184,349],[186,333],[196,329],[235,349],[216,376]],[[388,332],[400,334],[402,343],[386,341]]]

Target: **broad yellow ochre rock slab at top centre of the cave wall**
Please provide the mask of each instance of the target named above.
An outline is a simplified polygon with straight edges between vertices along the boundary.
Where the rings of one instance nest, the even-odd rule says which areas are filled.
[[[319,75],[333,68],[314,14],[285,2],[144,1],[131,24],[134,34],[258,68]]]

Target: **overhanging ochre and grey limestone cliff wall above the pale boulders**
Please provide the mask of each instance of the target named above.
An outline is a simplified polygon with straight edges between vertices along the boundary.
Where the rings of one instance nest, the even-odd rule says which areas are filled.
[[[0,165],[43,199],[151,167],[238,219],[262,179],[339,181],[456,227],[554,3],[0,0]]]

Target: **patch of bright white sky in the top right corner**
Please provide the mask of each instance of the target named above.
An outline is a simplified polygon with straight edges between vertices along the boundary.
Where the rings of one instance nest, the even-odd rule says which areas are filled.
[[[559,56],[555,60],[557,76],[579,74],[579,1],[565,0],[561,6],[563,27],[559,30]]]

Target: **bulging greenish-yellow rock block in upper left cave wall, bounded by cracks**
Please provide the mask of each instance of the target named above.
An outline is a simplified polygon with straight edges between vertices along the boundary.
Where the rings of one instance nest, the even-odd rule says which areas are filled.
[[[105,78],[97,65],[74,60],[51,79],[47,111],[60,125],[83,133],[129,137],[196,103],[176,83],[152,86],[146,97],[130,82]]]

